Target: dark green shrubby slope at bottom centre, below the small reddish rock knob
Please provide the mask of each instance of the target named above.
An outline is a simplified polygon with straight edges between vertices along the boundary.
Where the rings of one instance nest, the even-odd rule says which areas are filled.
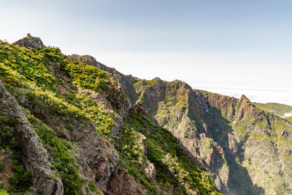
[[[152,193],[160,194],[163,190],[168,194],[221,194],[215,190],[206,170],[194,165],[168,130],[153,125],[148,118],[140,114],[132,114],[124,122],[121,136],[116,138],[120,160],[126,163],[129,173],[138,178]],[[138,144],[142,135],[147,140],[146,156],[142,155]],[[149,178],[143,175],[140,167],[143,167],[145,161],[154,164],[158,185],[151,184]]]

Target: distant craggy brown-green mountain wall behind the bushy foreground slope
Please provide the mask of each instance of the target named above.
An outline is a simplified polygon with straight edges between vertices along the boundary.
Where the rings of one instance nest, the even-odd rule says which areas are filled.
[[[140,80],[156,122],[204,163],[223,194],[291,194],[291,130],[285,119],[241,99],[201,94],[185,82]]]

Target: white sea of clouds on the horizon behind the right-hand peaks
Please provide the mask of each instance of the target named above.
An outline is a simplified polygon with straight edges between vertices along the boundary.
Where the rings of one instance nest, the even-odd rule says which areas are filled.
[[[236,84],[192,84],[193,89],[240,98],[244,94],[251,102],[281,103],[292,106],[292,88],[283,86],[256,86]],[[284,117],[291,116],[285,113]]]

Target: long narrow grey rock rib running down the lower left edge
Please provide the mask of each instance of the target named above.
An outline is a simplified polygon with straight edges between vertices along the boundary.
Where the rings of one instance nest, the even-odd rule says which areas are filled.
[[[42,143],[38,140],[36,132],[29,124],[15,98],[6,91],[1,81],[0,104],[5,112],[16,120],[13,136],[20,144],[21,157],[25,164],[25,168],[32,172],[32,182],[35,187],[35,193],[42,195],[63,194],[61,179],[56,178],[55,181],[51,179],[53,171],[48,167],[48,155]]]

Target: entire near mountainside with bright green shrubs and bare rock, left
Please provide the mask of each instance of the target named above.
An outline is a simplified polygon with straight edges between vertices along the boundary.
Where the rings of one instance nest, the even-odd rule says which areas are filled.
[[[15,165],[9,192],[221,194],[180,140],[152,124],[141,102],[131,106],[135,78],[37,41],[0,40],[0,161]]]

